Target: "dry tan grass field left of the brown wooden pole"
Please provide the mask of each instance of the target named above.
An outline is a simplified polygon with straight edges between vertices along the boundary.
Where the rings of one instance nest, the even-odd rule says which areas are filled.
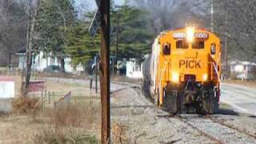
[[[15,77],[15,89],[19,95],[21,78]],[[49,98],[45,97],[35,106],[34,99],[41,94],[30,95],[28,99],[14,99],[14,112],[1,114],[0,143],[98,143],[100,139],[100,100],[89,86],[47,80]],[[54,102],[71,92],[68,106],[54,109]],[[31,100],[33,99],[33,100]],[[25,103],[25,104],[24,104]],[[24,105],[24,106],[23,106]],[[15,109],[21,108],[21,110]]]

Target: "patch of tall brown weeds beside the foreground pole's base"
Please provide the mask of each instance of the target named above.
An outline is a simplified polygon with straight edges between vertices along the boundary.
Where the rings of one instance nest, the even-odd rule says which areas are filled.
[[[34,143],[98,143],[99,105],[85,98],[58,109],[50,108],[43,116],[46,125],[34,136]]]

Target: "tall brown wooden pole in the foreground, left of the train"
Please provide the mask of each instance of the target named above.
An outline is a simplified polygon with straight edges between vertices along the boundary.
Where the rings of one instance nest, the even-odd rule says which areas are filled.
[[[102,103],[102,144],[110,143],[110,0],[100,1],[101,38],[100,84]]]

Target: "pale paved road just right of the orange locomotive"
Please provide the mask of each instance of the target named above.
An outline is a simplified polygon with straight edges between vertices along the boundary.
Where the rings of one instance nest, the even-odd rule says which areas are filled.
[[[256,115],[256,89],[222,83],[220,101],[240,113]]]

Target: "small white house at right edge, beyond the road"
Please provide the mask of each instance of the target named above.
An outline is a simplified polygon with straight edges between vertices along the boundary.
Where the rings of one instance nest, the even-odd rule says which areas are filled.
[[[254,79],[256,74],[256,63],[231,61],[230,74],[233,78]]]

